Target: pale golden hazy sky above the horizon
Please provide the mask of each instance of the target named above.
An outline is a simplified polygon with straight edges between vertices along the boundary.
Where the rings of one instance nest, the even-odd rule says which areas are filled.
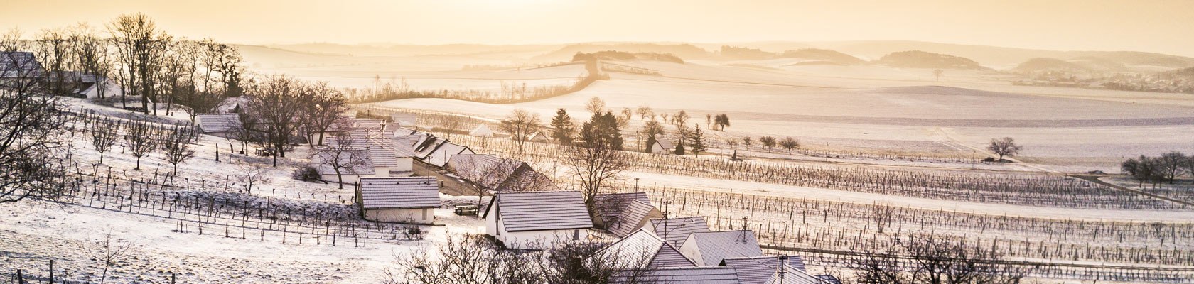
[[[25,32],[142,12],[232,43],[572,43],[905,39],[1194,56],[1187,0],[4,0]]]

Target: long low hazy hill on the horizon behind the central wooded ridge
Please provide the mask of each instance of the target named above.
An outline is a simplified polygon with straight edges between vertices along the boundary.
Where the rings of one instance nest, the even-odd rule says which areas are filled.
[[[615,44],[571,44],[559,50],[534,56],[530,61],[560,62],[570,61],[578,53],[592,54],[598,51],[624,51],[624,53],[650,53],[671,54],[681,58],[709,58],[709,51],[691,44],[654,44],[654,43],[615,43]]]

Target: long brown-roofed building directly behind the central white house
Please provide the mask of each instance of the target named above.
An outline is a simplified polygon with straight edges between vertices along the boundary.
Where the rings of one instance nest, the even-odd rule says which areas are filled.
[[[444,168],[476,186],[492,191],[559,190],[550,178],[536,172],[530,165],[488,154],[454,155]]]

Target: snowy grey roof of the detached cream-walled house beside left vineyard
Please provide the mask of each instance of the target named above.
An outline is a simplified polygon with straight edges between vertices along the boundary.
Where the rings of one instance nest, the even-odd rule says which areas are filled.
[[[361,178],[364,209],[438,208],[439,183],[435,177]]]

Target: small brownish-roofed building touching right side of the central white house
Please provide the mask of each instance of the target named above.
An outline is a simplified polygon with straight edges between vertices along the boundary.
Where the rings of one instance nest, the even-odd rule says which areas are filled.
[[[603,193],[592,197],[597,208],[593,224],[615,236],[627,236],[647,224],[647,220],[663,218],[651,205],[646,192]]]

